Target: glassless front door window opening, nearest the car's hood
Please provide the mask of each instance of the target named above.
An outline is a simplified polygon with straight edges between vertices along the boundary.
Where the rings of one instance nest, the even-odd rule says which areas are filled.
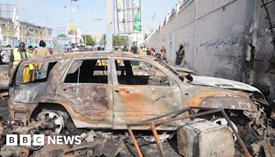
[[[146,61],[116,60],[121,85],[170,85],[168,76]]]

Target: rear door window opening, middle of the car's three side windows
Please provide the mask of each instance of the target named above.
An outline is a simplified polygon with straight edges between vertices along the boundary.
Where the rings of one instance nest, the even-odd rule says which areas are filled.
[[[108,83],[106,59],[78,60],[69,67],[65,83]]]

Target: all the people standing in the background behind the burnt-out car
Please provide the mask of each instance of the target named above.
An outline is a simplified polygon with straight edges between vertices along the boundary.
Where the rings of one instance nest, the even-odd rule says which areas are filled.
[[[14,48],[13,50],[8,49],[7,51],[2,51],[1,52],[1,62],[2,63],[7,63],[9,65],[8,68],[8,76],[11,74],[11,70],[14,69],[19,61],[22,59],[28,59],[34,56],[49,56],[52,54],[52,52],[45,48],[46,44],[44,41],[39,42],[39,47],[34,47],[29,46],[28,48],[25,48],[25,43],[21,42],[19,43],[19,46],[17,48]],[[74,43],[71,44],[72,46],[72,51],[78,51],[78,48],[74,45]],[[10,45],[6,46],[7,48],[10,48]],[[101,48],[100,48],[101,49]],[[166,59],[166,49],[164,46],[159,49],[159,52],[156,52],[154,48],[146,48],[145,46],[141,46],[140,48],[137,48],[137,46],[131,47],[131,50],[129,51],[126,48],[126,45],[124,45],[124,48],[122,49],[124,52],[132,52],[134,54],[140,54],[140,55],[148,55],[148,56],[153,56],[156,59],[159,59],[161,61],[164,61],[167,63]],[[176,65],[184,65],[185,63],[185,52],[184,52],[184,46],[180,45],[179,50],[176,52],[176,60],[175,64]],[[27,73],[36,73],[39,70],[40,65],[30,65],[28,68]],[[33,72],[34,71],[34,72]],[[32,77],[32,76],[30,76]]]

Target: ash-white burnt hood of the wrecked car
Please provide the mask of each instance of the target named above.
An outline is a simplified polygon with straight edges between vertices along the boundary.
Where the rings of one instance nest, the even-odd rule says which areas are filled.
[[[230,89],[230,90],[245,90],[250,92],[259,92],[256,87],[251,85],[241,83],[238,81],[232,81],[228,79],[220,79],[216,77],[208,77],[208,76],[191,76],[192,81],[190,82],[192,85],[206,85],[210,87],[219,87],[223,89]]]

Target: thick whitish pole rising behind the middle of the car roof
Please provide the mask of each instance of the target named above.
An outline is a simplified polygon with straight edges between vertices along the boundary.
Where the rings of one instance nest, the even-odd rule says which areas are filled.
[[[113,49],[113,3],[112,0],[106,0],[107,25],[106,25],[106,51]]]

